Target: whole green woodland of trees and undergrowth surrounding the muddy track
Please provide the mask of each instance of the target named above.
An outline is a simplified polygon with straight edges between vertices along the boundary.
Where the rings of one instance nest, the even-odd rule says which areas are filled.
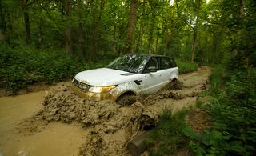
[[[184,144],[197,155],[256,153],[255,46],[254,0],[0,1],[0,87],[14,93],[122,54],[171,56],[182,73],[213,66],[210,101],[197,105],[212,126],[194,134],[184,115],[163,114],[157,154]]]

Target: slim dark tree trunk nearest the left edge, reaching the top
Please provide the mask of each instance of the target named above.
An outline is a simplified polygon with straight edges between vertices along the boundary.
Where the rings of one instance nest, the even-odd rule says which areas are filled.
[[[30,14],[27,6],[28,0],[22,0],[22,10],[24,16],[24,23],[25,23],[25,42],[26,45],[30,44]]]

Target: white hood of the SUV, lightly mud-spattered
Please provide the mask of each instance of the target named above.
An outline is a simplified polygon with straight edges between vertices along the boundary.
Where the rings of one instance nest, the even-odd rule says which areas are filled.
[[[139,74],[130,74],[122,70],[99,68],[78,73],[74,78],[90,86],[113,86],[134,81]]]

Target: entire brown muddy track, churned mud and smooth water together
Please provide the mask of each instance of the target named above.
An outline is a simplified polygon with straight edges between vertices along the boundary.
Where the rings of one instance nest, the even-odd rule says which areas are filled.
[[[49,89],[0,98],[0,156],[129,155],[127,142],[158,122],[163,109],[193,106],[206,89],[209,67],[182,74],[178,86],[139,97],[132,106],[78,98],[70,82]],[[205,124],[203,112],[188,116],[194,130]],[[146,154],[145,154],[146,155]]]

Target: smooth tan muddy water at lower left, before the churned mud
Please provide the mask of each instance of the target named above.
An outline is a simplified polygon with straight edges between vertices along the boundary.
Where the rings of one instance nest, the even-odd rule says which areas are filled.
[[[86,130],[74,124],[52,122],[36,135],[18,133],[24,118],[42,109],[46,91],[0,98],[0,156],[77,155]]]

